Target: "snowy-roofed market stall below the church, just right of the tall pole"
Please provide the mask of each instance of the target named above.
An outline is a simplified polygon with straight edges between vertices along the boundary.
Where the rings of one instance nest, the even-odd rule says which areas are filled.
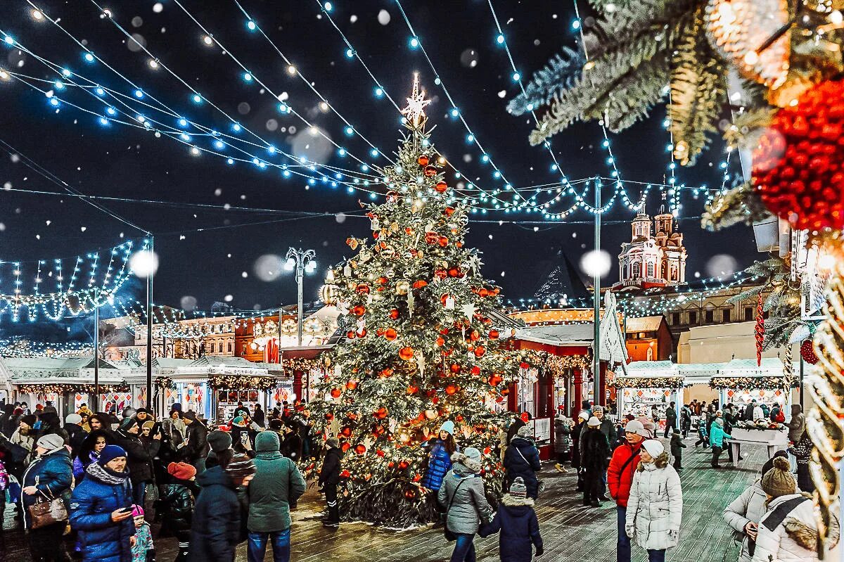
[[[684,378],[671,361],[635,361],[627,365],[627,375],[615,377],[613,384],[618,389],[619,416],[650,418],[652,408],[657,408],[664,429],[665,410],[674,403],[679,419]]]

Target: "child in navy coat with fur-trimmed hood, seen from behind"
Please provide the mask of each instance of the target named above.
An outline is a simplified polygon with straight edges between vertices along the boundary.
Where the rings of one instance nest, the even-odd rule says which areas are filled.
[[[501,498],[498,511],[490,523],[490,531],[501,532],[498,537],[501,562],[531,562],[534,546],[536,555],[542,556],[544,550],[539,521],[522,478],[516,478],[510,492]]]

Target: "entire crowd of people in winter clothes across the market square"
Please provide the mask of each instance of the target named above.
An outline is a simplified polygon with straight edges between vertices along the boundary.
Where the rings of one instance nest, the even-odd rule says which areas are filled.
[[[73,555],[84,561],[153,560],[153,533],[145,519],[150,507],[161,522],[159,537],[176,538],[176,562],[231,562],[240,543],[246,543],[249,562],[261,562],[268,547],[274,562],[287,562],[290,514],[306,489],[298,462],[313,459],[319,467],[317,484],[326,501],[322,524],[336,528],[341,521],[341,441],[332,436],[315,443],[303,409],[278,404],[264,412],[260,405],[250,410],[239,404],[224,427],[213,429],[177,406],[162,419],[145,408],[127,408],[118,419],[83,405],[62,424],[49,403],[34,413],[25,403],[7,405],[0,417],[0,498],[8,489],[19,503],[35,562],[64,560],[62,538],[68,533],[75,538]],[[717,459],[733,427],[741,419],[759,419],[760,409],[753,403],[701,408],[693,402],[678,414],[672,403],[663,412],[663,437],[671,436],[663,444],[658,412],[614,421],[607,409],[583,403],[576,419],[555,419],[555,467],[576,471],[583,505],[614,501],[618,562],[630,562],[633,543],[647,551],[649,562],[663,562],[681,541],[679,471],[693,419],[702,435],[695,446],[711,447],[712,466],[720,467]],[[796,406],[786,422],[777,409],[769,410],[768,419],[782,419],[792,446],[767,462],[760,478],[724,511],[726,524],[742,540],[739,562],[817,559],[812,502],[803,494],[811,489],[805,416]],[[503,561],[530,562],[544,554],[534,511],[544,493],[542,464],[529,422],[524,413],[501,432],[503,494],[492,503],[483,455],[472,446],[461,449],[452,421],[423,442],[420,484],[441,506],[445,537],[454,542],[452,562],[474,562],[476,535],[494,533]]]

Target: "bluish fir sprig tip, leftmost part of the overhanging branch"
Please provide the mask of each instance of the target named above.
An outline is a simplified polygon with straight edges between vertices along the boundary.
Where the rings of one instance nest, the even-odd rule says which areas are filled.
[[[507,111],[512,115],[522,115],[549,103],[555,94],[576,84],[584,64],[586,59],[581,49],[564,46],[562,54],[555,55],[544,68],[533,73],[524,93],[507,104]]]

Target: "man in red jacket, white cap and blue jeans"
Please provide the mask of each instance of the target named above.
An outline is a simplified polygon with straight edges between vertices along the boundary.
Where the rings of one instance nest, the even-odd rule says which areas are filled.
[[[607,486],[609,495],[616,504],[619,523],[619,540],[616,543],[617,562],[630,562],[630,538],[627,537],[625,524],[627,522],[627,500],[630,499],[630,485],[633,484],[633,473],[639,466],[639,451],[641,442],[650,437],[641,421],[636,419],[625,425],[625,441],[615,448],[613,457],[609,461],[607,470]]]

